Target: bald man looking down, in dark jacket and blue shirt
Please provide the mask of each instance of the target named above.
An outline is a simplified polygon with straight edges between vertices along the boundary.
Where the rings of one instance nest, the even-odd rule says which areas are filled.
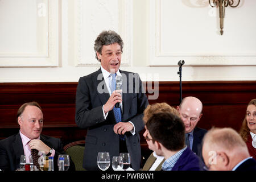
[[[185,97],[177,106],[177,111],[185,125],[185,143],[202,158],[202,140],[207,130],[196,127],[202,117],[203,104],[196,97]]]

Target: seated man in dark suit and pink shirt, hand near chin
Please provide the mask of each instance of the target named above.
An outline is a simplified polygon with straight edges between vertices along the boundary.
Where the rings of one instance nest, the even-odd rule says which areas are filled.
[[[17,121],[20,126],[19,133],[0,141],[0,169],[15,171],[19,168],[20,155],[29,156],[31,150],[37,150],[44,152],[46,156],[53,156],[54,169],[57,171],[58,155],[65,152],[60,139],[41,134],[43,113],[39,104],[28,102],[20,106]],[[34,164],[39,168],[35,161]],[[75,170],[71,159],[69,170]]]

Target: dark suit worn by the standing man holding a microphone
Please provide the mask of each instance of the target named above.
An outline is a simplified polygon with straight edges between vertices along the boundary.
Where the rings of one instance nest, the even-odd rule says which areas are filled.
[[[148,100],[143,92],[142,82],[138,74],[119,71],[123,77],[127,77],[126,86],[125,81],[123,81],[122,122],[131,121],[136,131],[135,135],[131,135],[130,132],[125,133],[126,146],[131,155],[131,165],[133,169],[138,170],[141,165],[139,132],[144,129],[142,117]],[[119,136],[113,131],[113,126],[116,124],[113,110],[109,111],[106,119],[104,119],[102,112],[102,106],[106,104],[110,96],[101,74],[101,69],[98,69],[90,75],[80,77],[76,92],[76,124],[82,129],[87,129],[83,167],[86,170],[94,171],[99,170],[97,166],[98,152],[109,152],[110,160],[113,156],[119,155]],[[131,82],[128,79],[131,74],[137,76],[138,80],[131,78],[133,80]],[[137,87],[135,86],[136,83],[139,84],[139,92],[134,93],[134,89]],[[105,92],[99,93],[98,86]],[[129,93],[129,88],[133,88],[133,93]]]

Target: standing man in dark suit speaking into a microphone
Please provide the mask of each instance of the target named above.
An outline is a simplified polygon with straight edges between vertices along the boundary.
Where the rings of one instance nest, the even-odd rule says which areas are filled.
[[[76,92],[76,123],[88,129],[85,138],[84,164],[98,170],[97,154],[106,151],[110,159],[121,152],[131,155],[131,167],[141,164],[139,132],[143,130],[143,111],[148,105],[137,73],[119,69],[123,41],[114,31],[103,31],[94,44],[101,68],[80,77]],[[115,76],[122,77],[121,90],[115,89]],[[115,104],[120,103],[120,107]]]

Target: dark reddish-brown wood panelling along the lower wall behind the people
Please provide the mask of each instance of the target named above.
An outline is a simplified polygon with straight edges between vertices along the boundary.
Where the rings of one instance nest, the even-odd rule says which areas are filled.
[[[232,127],[238,131],[247,104],[256,98],[256,81],[184,81],[182,86],[183,97],[195,96],[203,102],[203,117],[198,126],[205,129]],[[16,111],[30,101],[42,106],[43,134],[61,138],[64,144],[84,139],[86,130],[75,123],[76,88],[77,82],[0,83],[0,139],[18,132]],[[159,82],[154,89],[159,89],[159,97],[150,100],[150,104],[179,105],[179,82]],[[142,134],[142,152],[147,155],[150,151]]]

